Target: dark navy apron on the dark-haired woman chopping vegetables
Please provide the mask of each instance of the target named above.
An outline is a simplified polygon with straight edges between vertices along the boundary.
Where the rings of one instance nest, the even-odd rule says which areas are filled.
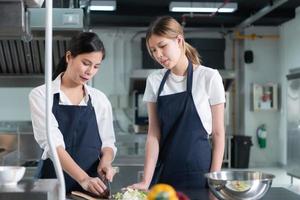
[[[52,112],[63,134],[66,151],[89,176],[96,177],[102,141],[99,136],[91,97],[87,106],[59,105],[59,93],[54,94]],[[80,185],[64,172],[66,192],[83,191]],[[56,178],[52,161],[39,163],[38,178]]]

